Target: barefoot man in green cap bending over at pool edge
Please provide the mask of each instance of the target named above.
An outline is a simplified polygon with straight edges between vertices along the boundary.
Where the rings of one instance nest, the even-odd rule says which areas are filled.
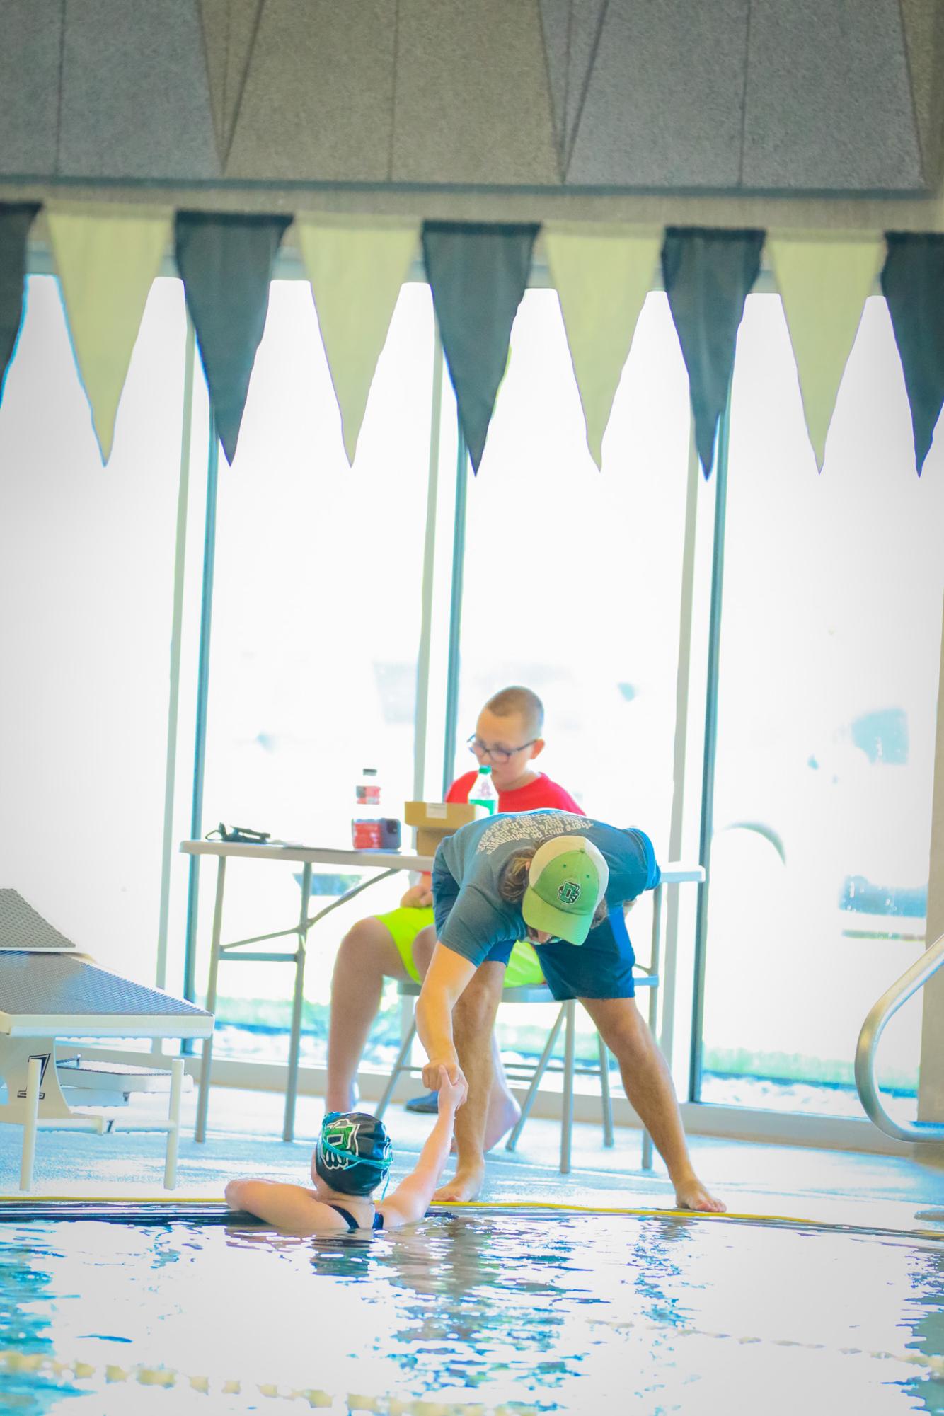
[[[416,1005],[429,1056],[423,1082],[436,1087],[444,1068],[453,1082],[471,1078],[474,1085],[456,1116],[456,1177],[436,1198],[473,1199],[481,1185],[491,1028],[511,947],[526,937],[553,997],[577,998],[614,1054],[626,1095],[665,1161],[678,1208],[725,1209],[692,1168],[668,1066],[633,997],[634,954],[623,906],[658,882],[643,831],[568,811],[473,821],[442,843],[433,861],[437,943]],[[480,1015],[477,1029],[466,1027],[457,1051],[453,1010],[477,971],[494,976],[494,1007],[490,1017]]]

